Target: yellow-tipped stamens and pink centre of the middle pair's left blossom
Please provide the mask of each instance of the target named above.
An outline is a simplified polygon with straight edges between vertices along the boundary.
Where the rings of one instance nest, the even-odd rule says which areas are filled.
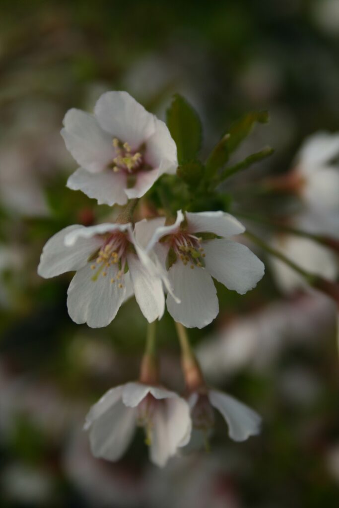
[[[95,263],[90,266],[95,271],[93,281],[99,276],[106,277],[110,274],[112,284],[116,281],[119,288],[124,287],[124,274],[126,266],[126,250],[128,240],[124,233],[113,233],[102,245],[98,252]]]

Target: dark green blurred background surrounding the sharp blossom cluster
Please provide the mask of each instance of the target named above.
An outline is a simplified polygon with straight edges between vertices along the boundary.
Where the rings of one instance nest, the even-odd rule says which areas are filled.
[[[202,119],[203,155],[234,119],[268,109],[270,123],[241,150],[275,153],[244,173],[240,209],[252,178],[289,170],[307,136],[339,130],[338,62],[337,0],[2,0],[1,506],[338,505],[339,365],[326,297],[283,292],[266,259],[248,295],[218,285],[218,318],[190,337],[208,381],[255,408],[263,430],[234,443],[217,420],[209,453],[184,452],[159,470],[142,433],[112,464],[91,457],[82,431],[89,406],[138,375],[146,325],[135,301],[91,330],[67,314],[71,274],[36,272],[52,234],[110,213],[65,187],[76,169],[59,135],[69,108],[91,111],[101,93],[122,89],[164,119],[178,92]],[[164,383],[182,390],[168,314],[158,342]]]

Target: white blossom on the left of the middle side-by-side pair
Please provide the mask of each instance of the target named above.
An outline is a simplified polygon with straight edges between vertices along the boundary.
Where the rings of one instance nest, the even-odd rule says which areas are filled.
[[[44,278],[76,270],[67,306],[75,323],[107,326],[120,305],[135,295],[149,322],[163,315],[162,281],[136,243],[131,224],[69,226],[48,240],[38,273]]]

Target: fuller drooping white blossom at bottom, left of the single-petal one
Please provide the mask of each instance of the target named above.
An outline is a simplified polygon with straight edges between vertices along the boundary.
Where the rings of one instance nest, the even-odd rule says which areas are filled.
[[[150,460],[162,467],[190,439],[190,408],[164,388],[127,383],[109,390],[90,409],[84,428],[93,454],[115,461],[125,453],[137,425],[145,429]]]

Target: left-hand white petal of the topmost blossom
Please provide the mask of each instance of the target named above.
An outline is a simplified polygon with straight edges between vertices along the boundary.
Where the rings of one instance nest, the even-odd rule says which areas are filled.
[[[61,129],[67,149],[76,162],[91,172],[103,171],[115,157],[112,136],[103,131],[95,116],[70,109]]]

